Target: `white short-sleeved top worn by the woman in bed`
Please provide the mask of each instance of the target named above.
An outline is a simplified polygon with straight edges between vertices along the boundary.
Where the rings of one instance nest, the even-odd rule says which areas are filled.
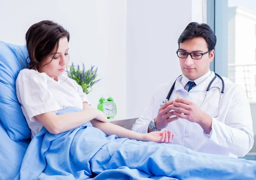
[[[58,82],[46,73],[23,69],[16,80],[16,93],[33,138],[43,127],[35,115],[67,107],[83,109],[83,102],[90,102],[79,84],[62,75]]]

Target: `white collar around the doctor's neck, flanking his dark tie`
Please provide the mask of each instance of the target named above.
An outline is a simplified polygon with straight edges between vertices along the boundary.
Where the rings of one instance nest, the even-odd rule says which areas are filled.
[[[196,79],[194,82],[197,84],[195,87],[192,88],[192,90],[190,90],[189,92],[192,92],[192,91],[201,91],[201,90],[207,90],[207,87],[209,85],[209,83],[212,81],[212,79],[214,78],[215,76],[215,73],[212,71],[209,71],[208,73],[206,73],[204,76]],[[185,80],[182,80],[183,77],[185,76],[180,76],[177,80],[176,80],[176,83],[175,83],[175,89],[174,90],[184,90],[184,87],[185,85],[183,86],[183,84],[187,81],[189,82],[190,80],[187,78]],[[186,82],[186,83],[187,83]]]

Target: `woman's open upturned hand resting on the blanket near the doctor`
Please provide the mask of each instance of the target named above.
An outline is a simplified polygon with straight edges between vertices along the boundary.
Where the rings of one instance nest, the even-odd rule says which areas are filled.
[[[143,141],[153,141],[157,143],[172,143],[174,134],[171,131],[154,131],[148,134],[144,134]]]

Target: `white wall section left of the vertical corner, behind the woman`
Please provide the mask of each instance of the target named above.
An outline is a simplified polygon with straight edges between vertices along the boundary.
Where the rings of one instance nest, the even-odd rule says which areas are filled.
[[[93,107],[108,93],[125,116],[126,0],[0,0],[0,41],[25,44],[26,31],[41,20],[70,32],[70,62],[98,66],[102,81],[88,96]]]

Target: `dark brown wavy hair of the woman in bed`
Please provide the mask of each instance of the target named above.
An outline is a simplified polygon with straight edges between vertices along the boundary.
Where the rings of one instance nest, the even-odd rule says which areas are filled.
[[[29,52],[27,59],[30,59],[29,63],[27,59],[26,62],[29,65],[29,69],[37,69],[40,72],[45,66],[38,69],[41,62],[46,59],[49,54],[54,53],[55,55],[57,53],[58,42],[63,37],[67,37],[67,41],[69,42],[70,33],[58,23],[44,20],[33,24],[26,32],[26,47]]]

